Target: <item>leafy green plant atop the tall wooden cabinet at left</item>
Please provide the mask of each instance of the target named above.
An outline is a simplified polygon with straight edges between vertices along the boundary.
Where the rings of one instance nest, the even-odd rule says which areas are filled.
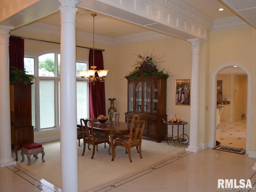
[[[10,71],[10,85],[14,83],[23,83],[24,85],[28,85],[34,79],[34,75],[26,74],[26,69],[20,70],[16,67],[12,67],[12,71]]]

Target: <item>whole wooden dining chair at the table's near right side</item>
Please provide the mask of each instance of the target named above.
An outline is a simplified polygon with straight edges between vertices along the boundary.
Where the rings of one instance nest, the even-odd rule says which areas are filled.
[[[140,158],[142,158],[141,154],[141,143],[142,143],[142,134],[145,127],[145,120],[132,121],[130,125],[130,134],[129,135],[116,135],[116,139],[114,140],[114,146],[123,146],[125,147],[125,152],[128,153],[130,162],[132,162],[131,158],[131,148],[136,147],[137,152],[140,154]]]

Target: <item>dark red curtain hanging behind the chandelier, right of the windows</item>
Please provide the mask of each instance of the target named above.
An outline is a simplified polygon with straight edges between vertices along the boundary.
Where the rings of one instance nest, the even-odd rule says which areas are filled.
[[[93,65],[93,49],[89,52],[89,69]],[[94,65],[96,70],[104,69],[102,51],[94,50]],[[98,76],[97,72],[95,73]],[[89,114],[90,118],[96,118],[99,115],[106,116],[105,103],[105,83],[97,81],[95,85],[89,83]]]

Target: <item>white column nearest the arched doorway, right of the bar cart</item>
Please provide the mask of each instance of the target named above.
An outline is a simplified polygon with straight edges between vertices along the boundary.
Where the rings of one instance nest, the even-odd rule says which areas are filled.
[[[199,38],[188,40],[192,44],[192,74],[191,74],[191,89],[190,89],[190,137],[189,146],[186,151],[198,152],[201,150],[198,145],[199,133],[199,53],[200,43]]]

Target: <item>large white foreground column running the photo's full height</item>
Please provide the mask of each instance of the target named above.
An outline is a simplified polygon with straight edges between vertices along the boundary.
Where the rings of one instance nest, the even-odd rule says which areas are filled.
[[[62,192],[78,192],[76,120],[76,4],[59,0],[60,9],[60,158]]]

